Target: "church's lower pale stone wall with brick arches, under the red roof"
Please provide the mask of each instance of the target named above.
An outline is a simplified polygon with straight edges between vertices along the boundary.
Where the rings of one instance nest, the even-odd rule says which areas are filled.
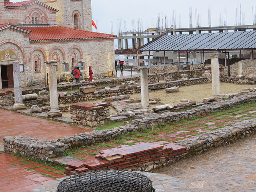
[[[112,76],[111,69],[114,70],[114,39],[101,39],[101,40],[80,40],[78,42],[55,42],[50,44],[49,42],[41,42],[30,44],[29,38],[24,37],[22,34],[4,30],[0,32],[0,52],[9,49],[16,53],[17,60],[20,64],[24,65],[24,72],[21,72],[21,84],[25,86],[44,86],[46,83],[46,76],[48,74],[48,68],[44,64],[44,61],[53,60],[52,54],[57,52],[60,56],[60,63],[71,63],[71,53],[76,52],[77,61],[82,60],[84,62],[84,68],[82,72],[88,78],[88,68],[92,66],[94,72],[94,78],[107,78]],[[17,42],[17,40],[19,42]],[[97,47],[97,49],[93,49]],[[34,72],[33,57],[38,55],[40,57],[40,72]],[[13,61],[3,61],[1,64],[12,64]],[[59,75],[63,81],[72,82],[71,65],[69,72],[64,72],[64,65],[58,67],[57,79]]]

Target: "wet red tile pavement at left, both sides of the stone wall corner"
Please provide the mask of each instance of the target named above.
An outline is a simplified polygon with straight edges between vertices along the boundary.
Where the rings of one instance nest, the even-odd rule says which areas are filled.
[[[40,140],[53,140],[88,131],[92,130],[0,109],[1,143],[4,136],[23,135]],[[50,171],[42,170],[43,164],[35,167],[26,163],[22,164],[20,160],[10,154],[0,154],[0,192],[28,192],[37,186],[55,180],[52,177],[63,177],[55,172],[50,174]],[[49,173],[51,177],[43,176],[40,174],[42,171],[46,175]]]

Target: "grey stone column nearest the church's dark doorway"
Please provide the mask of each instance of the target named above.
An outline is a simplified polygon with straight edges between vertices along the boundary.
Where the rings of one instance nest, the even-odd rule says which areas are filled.
[[[13,83],[14,83],[14,100],[15,104],[12,106],[14,111],[26,109],[26,106],[22,103],[22,89],[20,80],[20,62],[14,61],[13,67]]]

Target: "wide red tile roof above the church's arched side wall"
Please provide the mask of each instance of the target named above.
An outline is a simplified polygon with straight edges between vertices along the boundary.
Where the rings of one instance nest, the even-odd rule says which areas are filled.
[[[115,38],[116,35],[84,31],[63,26],[24,26],[18,27],[31,31],[29,39],[31,41],[43,40],[68,40],[68,39],[90,39],[90,38]]]

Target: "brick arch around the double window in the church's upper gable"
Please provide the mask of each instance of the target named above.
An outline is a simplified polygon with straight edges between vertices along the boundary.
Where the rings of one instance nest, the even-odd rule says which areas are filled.
[[[48,16],[46,12],[39,8],[31,7],[26,10],[24,14],[24,23],[32,23],[32,16],[38,15],[38,23],[49,23]]]

